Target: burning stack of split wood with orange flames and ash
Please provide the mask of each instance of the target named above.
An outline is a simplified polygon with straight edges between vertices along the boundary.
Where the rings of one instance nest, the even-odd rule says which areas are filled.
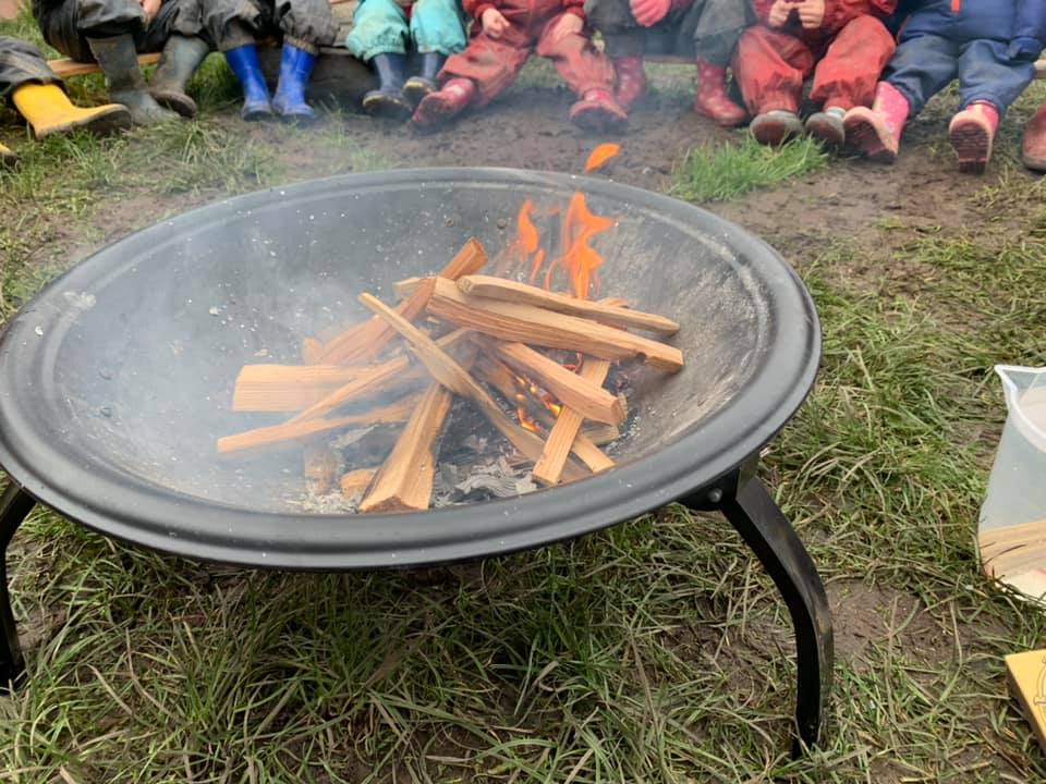
[[[561,253],[548,257],[547,268],[535,220],[559,220]],[[477,274],[487,255],[471,240],[436,275],[397,283],[402,301],[394,307],[361,294],[360,302],[374,316],[326,344],[305,339],[305,365],[241,370],[233,411],[293,416],[280,425],[221,438],[218,452],[248,454],[307,444],[309,487],[320,492],[340,486],[345,498],[358,500],[361,512],[424,510],[433,503],[434,492],[437,502],[446,502],[448,492],[476,488],[502,497],[533,489],[532,477],[556,485],[612,468],[613,460],[597,445],[619,440],[628,418],[627,402],[617,392],[622,376],[616,375],[607,389],[612,366],[640,359],[674,372],[683,365],[678,348],[630,331],[667,336],[679,330],[677,322],[629,309],[620,297],[587,298],[599,287],[596,270],[603,264],[591,241],[613,224],[594,215],[581,194],[561,215],[555,209],[536,211],[527,199],[518,236],[499,258],[525,265],[520,272],[540,278],[544,289]],[[565,280],[573,296],[551,292],[554,280]],[[471,340],[463,341],[465,336]],[[430,381],[424,394],[378,404],[390,393],[408,393],[426,378]],[[455,415],[447,425],[455,395],[478,408],[514,452],[484,458],[489,455],[489,437],[481,430],[454,444],[448,456],[448,444],[441,443],[447,439],[440,433],[446,428],[453,432],[469,419]],[[513,411],[519,422],[507,413]],[[389,427],[374,429],[385,425],[399,426],[399,436]],[[342,430],[346,432],[333,438]],[[350,468],[353,462],[365,466],[380,462],[380,468],[341,474],[339,450],[344,449],[358,455],[344,457]],[[453,455],[459,455],[457,461]],[[486,463],[469,470],[460,455]],[[445,457],[451,462],[441,463]],[[515,477],[504,473],[518,470],[516,466],[523,471],[532,466],[531,473]],[[472,482],[475,477],[482,481]]]

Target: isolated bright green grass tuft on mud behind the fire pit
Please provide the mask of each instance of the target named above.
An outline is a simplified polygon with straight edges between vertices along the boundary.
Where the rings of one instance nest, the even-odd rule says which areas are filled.
[[[726,201],[817,171],[827,162],[828,156],[811,138],[773,148],[743,134],[735,143],[692,149],[677,169],[671,194],[689,201]]]

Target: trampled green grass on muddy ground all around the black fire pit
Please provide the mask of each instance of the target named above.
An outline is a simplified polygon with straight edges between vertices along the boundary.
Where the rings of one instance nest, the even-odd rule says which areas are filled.
[[[0,174],[0,321],[171,211],[402,162],[337,117],[244,128],[220,61],[195,89],[194,123],[44,144],[3,131],[23,163]],[[743,206],[827,166],[808,143],[738,140],[696,148],[670,187]],[[1046,211],[1041,182],[1005,162],[969,182],[952,181],[959,225],[890,213],[859,243],[790,213],[766,236],[800,265],[825,338],[816,389],[764,462],[837,607],[808,757],[787,755],[787,612],[716,516],[669,506],[483,564],[288,575],[165,559],[37,511],[10,559],[29,672],[0,698],[0,781],[1043,780],[1001,657],[1042,646],[1046,616],[981,577],[973,537],[1004,412],[990,368],[1046,364]],[[831,209],[816,198],[803,209]]]

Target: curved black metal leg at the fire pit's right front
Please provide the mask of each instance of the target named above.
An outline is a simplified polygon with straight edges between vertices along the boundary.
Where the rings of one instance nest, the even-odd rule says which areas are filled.
[[[686,499],[684,503],[692,509],[722,512],[784,598],[795,627],[799,739],[793,754],[799,757],[802,744],[817,744],[831,691],[831,612],[817,567],[792,524],[755,478],[754,468],[754,464],[745,466],[703,497]]]

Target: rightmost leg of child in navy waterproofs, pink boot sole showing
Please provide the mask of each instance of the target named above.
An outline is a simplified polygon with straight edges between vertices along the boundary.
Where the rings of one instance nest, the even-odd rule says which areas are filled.
[[[992,159],[999,118],[1035,77],[1029,61],[1013,61],[1002,41],[965,44],[959,58],[960,111],[948,126],[959,170],[981,174]]]

